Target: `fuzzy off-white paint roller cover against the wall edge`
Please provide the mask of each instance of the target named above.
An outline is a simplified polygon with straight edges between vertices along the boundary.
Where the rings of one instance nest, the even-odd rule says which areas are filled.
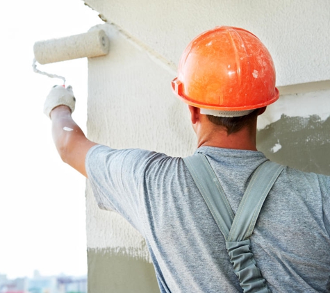
[[[35,60],[40,64],[83,57],[104,56],[109,51],[109,40],[103,30],[89,31],[60,39],[35,42]]]

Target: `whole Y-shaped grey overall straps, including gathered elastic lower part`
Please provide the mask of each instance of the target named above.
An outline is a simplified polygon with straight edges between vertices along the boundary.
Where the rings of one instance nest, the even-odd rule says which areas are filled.
[[[203,153],[183,158],[226,240],[226,249],[243,292],[271,292],[251,252],[249,237],[272,186],[284,166],[267,160],[252,175],[234,215],[217,176]]]

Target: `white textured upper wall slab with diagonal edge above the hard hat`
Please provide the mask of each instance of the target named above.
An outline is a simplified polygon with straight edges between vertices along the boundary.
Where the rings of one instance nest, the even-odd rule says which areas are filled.
[[[330,79],[330,1],[322,0],[86,0],[108,23],[176,65],[186,44],[214,26],[241,26],[266,45],[277,84]],[[308,60],[306,60],[308,59]]]

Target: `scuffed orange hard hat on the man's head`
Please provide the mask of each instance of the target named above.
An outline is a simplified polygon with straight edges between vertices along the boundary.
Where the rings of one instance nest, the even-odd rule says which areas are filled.
[[[269,51],[242,28],[218,26],[188,44],[172,89],[215,116],[242,116],[279,99]],[[213,114],[212,114],[213,113]]]

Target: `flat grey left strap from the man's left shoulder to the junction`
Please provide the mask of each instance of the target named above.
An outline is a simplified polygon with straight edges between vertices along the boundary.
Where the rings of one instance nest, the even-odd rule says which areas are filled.
[[[183,158],[217,226],[227,239],[235,217],[217,176],[203,153]]]

